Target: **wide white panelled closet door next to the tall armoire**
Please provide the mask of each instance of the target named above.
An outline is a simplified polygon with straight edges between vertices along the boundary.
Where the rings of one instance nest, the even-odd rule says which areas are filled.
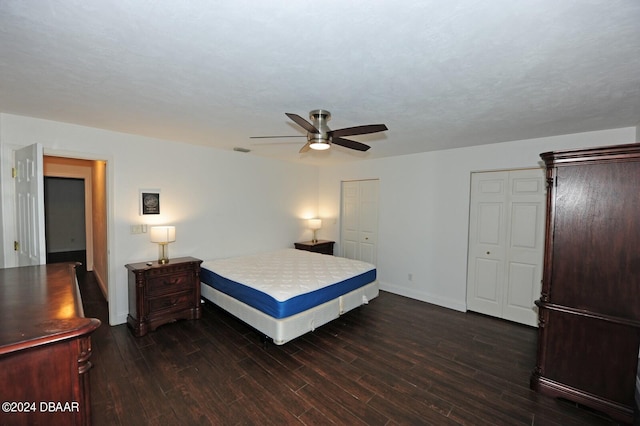
[[[467,308],[532,326],[544,251],[542,169],[473,173]]]

